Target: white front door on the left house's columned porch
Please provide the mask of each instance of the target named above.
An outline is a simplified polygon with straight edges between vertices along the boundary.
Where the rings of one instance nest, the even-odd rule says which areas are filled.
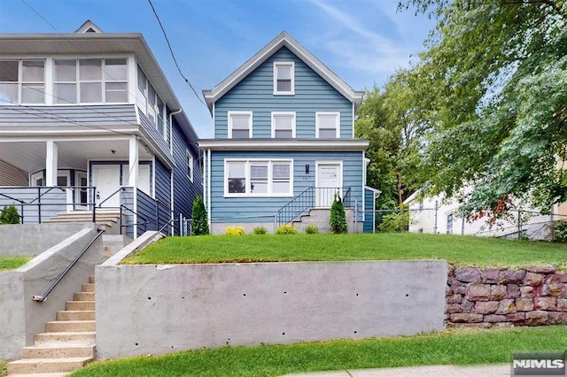
[[[97,188],[95,202],[102,207],[120,207],[120,165],[93,165],[92,181]],[[104,203],[103,203],[104,202]]]

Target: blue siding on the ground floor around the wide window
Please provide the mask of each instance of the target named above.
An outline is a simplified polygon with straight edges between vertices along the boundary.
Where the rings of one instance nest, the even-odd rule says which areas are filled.
[[[362,203],[362,152],[235,152],[213,151],[211,173],[211,218],[233,218],[238,222],[245,216],[272,216],[292,197],[224,197],[225,158],[291,158],[293,160],[293,194],[315,187],[315,162],[343,161],[343,187],[351,188],[351,204]],[[305,173],[305,165],[310,165]],[[225,222],[230,222],[227,220]]]

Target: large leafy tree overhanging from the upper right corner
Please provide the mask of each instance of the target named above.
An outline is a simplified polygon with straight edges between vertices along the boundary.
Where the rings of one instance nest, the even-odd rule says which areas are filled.
[[[563,0],[410,0],[437,18],[412,68],[428,129],[429,194],[470,214],[512,198],[567,199],[567,6]],[[472,188],[466,191],[465,188]]]

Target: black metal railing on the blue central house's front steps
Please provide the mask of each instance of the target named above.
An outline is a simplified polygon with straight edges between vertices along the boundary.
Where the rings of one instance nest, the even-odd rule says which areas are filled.
[[[277,224],[278,226],[288,224],[312,208],[330,207],[336,196],[342,199],[346,208],[350,207],[351,188],[307,188],[298,196],[295,196],[290,203],[278,210],[276,213]]]

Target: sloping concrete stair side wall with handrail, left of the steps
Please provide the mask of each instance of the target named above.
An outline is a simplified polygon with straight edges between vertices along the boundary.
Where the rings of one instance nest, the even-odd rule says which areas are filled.
[[[2,226],[4,227],[4,226]],[[66,267],[97,235],[93,227],[83,228],[16,270],[0,273],[0,360],[20,358],[21,348],[34,342],[34,335],[45,331],[45,322],[65,308],[74,292],[94,273],[94,266],[105,260],[99,238],[66,274],[43,303],[42,296]]]

